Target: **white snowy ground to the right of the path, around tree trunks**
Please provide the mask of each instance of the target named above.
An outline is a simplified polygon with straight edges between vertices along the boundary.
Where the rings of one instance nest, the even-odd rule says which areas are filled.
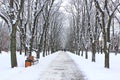
[[[88,80],[120,80],[120,54],[115,56],[114,53],[110,53],[110,69],[106,69],[104,68],[104,54],[96,54],[96,62],[91,62],[91,52],[88,53],[89,59],[67,53]]]

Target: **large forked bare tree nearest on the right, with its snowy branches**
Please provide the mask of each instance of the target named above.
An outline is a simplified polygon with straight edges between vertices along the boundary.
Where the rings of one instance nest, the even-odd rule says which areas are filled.
[[[113,10],[110,9],[110,1],[105,0],[104,5],[100,6],[100,3],[97,0],[94,0],[96,8],[99,10],[101,14],[101,25],[102,25],[102,33],[103,33],[103,51],[105,53],[105,67],[109,68],[109,48],[110,48],[110,27],[111,21],[113,19],[113,15],[117,10],[120,3],[118,3]]]

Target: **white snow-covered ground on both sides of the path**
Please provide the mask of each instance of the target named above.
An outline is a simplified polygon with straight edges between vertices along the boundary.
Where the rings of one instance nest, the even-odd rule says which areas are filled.
[[[31,67],[24,67],[25,59],[23,55],[17,53],[18,67],[10,67],[9,52],[0,54],[0,80],[39,80],[40,75],[44,73],[52,60],[61,53],[61,51],[41,58],[39,63]],[[91,53],[89,59],[67,52],[75,61],[78,68],[86,75],[87,80],[120,80],[120,55],[110,54],[110,69],[104,68],[104,54],[96,54],[96,62],[91,62]]]

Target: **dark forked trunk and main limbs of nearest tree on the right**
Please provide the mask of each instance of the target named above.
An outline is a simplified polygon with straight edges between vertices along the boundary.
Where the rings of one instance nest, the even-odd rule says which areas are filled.
[[[103,39],[104,39],[104,47],[103,47],[103,51],[105,54],[105,68],[109,68],[109,43],[110,43],[110,25],[111,25],[111,19],[112,16],[115,12],[115,10],[112,12],[111,15],[107,16],[108,17],[108,24],[106,26],[105,24],[105,12],[101,9],[99,3],[97,0],[94,0],[95,2],[95,6],[96,8],[100,11],[101,15],[102,15],[102,29],[103,29]],[[108,9],[107,7],[108,1],[105,0],[105,5],[104,5],[104,9]],[[118,6],[117,6],[118,7]],[[117,7],[115,9],[117,9]],[[107,27],[107,28],[106,28]]]

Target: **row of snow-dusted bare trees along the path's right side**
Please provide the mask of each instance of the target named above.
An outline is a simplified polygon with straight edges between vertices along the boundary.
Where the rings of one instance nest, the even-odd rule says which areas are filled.
[[[86,58],[88,58],[87,51],[90,49],[93,62],[95,62],[97,50],[99,52],[101,49],[100,51],[105,54],[104,67],[109,68],[109,51],[113,46],[112,38],[115,36],[115,29],[119,30],[120,27],[120,1],[71,0],[69,3],[66,11],[70,15],[71,31],[66,47],[78,55],[80,55],[80,51],[83,55],[83,50],[85,50]],[[114,24],[115,22],[117,24]]]

